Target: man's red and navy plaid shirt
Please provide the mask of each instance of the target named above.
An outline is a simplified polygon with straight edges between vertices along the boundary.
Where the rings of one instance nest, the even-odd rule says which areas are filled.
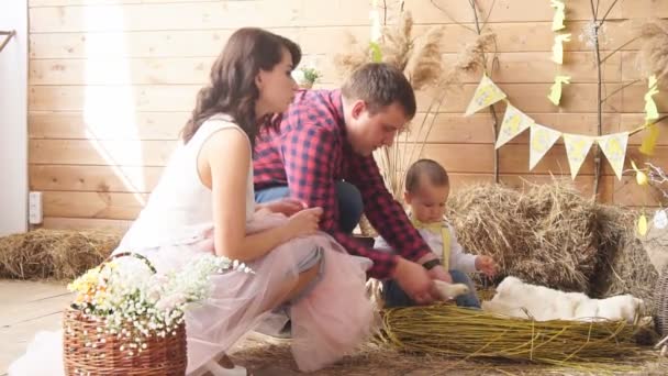
[[[350,254],[372,259],[372,277],[389,278],[396,256],[368,248],[338,228],[335,181],[346,180],[359,189],[369,222],[401,256],[416,261],[430,248],[387,190],[374,157],[355,154],[345,133],[339,90],[300,91],[280,133],[266,131],[257,140],[255,189],[287,185],[292,198],[322,207],[321,229]]]

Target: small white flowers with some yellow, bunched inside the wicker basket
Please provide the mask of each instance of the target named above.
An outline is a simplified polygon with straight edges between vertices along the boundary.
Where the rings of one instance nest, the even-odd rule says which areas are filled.
[[[167,274],[153,274],[143,262],[123,258],[102,269],[97,284],[104,286],[103,291],[96,294],[92,302],[81,303],[80,309],[90,319],[103,322],[104,330],[99,328],[97,332],[116,335],[122,350],[129,350],[131,343],[141,347],[130,349],[145,349],[147,336],[176,333],[186,310],[211,294],[209,278],[230,269],[253,273],[238,261],[214,255],[198,257],[178,273]],[[99,341],[104,343],[104,339]]]

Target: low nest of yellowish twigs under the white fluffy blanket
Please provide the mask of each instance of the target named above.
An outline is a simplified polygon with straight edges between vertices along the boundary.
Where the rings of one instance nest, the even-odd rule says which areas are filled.
[[[460,358],[506,360],[624,372],[647,361],[650,318],[624,321],[533,321],[453,305],[385,311],[382,341],[400,351]],[[630,369],[626,369],[630,371]]]

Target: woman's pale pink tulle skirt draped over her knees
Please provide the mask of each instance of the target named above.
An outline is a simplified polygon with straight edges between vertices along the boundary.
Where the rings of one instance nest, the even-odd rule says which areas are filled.
[[[247,231],[266,230],[286,220],[280,214],[256,215],[247,224]],[[211,236],[205,234],[197,243],[160,246],[142,253],[158,273],[165,273],[211,253],[212,244]],[[320,265],[318,277],[286,307],[292,325],[292,354],[299,369],[312,372],[325,367],[363,343],[374,322],[374,309],[365,295],[365,270],[370,261],[348,255],[330,235],[321,232],[294,239],[247,263],[254,274],[230,272],[211,278],[211,298],[186,317],[188,373],[229,352],[260,323],[265,329],[269,325],[280,330],[287,319],[280,320],[271,311],[283,305],[309,263]]]

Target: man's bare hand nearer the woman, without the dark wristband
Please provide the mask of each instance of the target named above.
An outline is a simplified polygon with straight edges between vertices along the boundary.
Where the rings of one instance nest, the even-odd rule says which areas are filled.
[[[393,278],[399,286],[419,305],[428,305],[437,297],[434,296],[434,280],[422,265],[398,257]]]

